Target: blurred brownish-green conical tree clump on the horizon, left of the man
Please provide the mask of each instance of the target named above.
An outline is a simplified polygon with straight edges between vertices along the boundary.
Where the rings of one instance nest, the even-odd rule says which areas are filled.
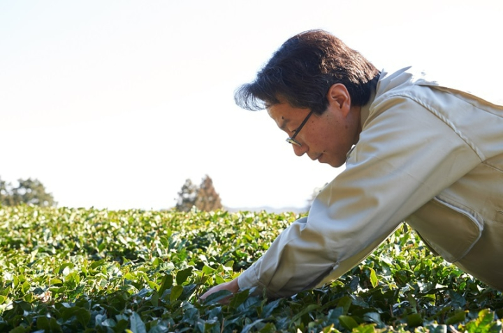
[[[175,206],[177,210],[188,212],[193,206],[206,212],[222,208],[220,196],[214,189],[210,176],[206,175],[200,186],[194,185],[190,179],[187,179],[178,192]]]

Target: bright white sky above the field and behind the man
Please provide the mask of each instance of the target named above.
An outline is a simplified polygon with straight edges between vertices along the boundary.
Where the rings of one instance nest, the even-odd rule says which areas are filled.
[[[0,0],[0,178],[58,206],[166,209],[207,174],[227,208],[307,205],[334,169],[237,107],[291,36],[503,99],[502,1]]]

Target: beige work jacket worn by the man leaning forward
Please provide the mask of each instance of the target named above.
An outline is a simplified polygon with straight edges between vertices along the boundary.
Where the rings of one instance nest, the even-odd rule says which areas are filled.
[[[404,68],[381,73],[346,169],[238,277],[270,296],[337,279],[405,221],[503,290],[503,107]]]

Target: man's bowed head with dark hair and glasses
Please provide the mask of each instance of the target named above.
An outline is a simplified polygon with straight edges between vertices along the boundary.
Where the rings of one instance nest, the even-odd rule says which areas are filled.
[[[360,134],[360,107],[379,71],[326,31],[287,40],[254,82],[235,93],[249,110],[268,109],[296,155],[341,166]]]

